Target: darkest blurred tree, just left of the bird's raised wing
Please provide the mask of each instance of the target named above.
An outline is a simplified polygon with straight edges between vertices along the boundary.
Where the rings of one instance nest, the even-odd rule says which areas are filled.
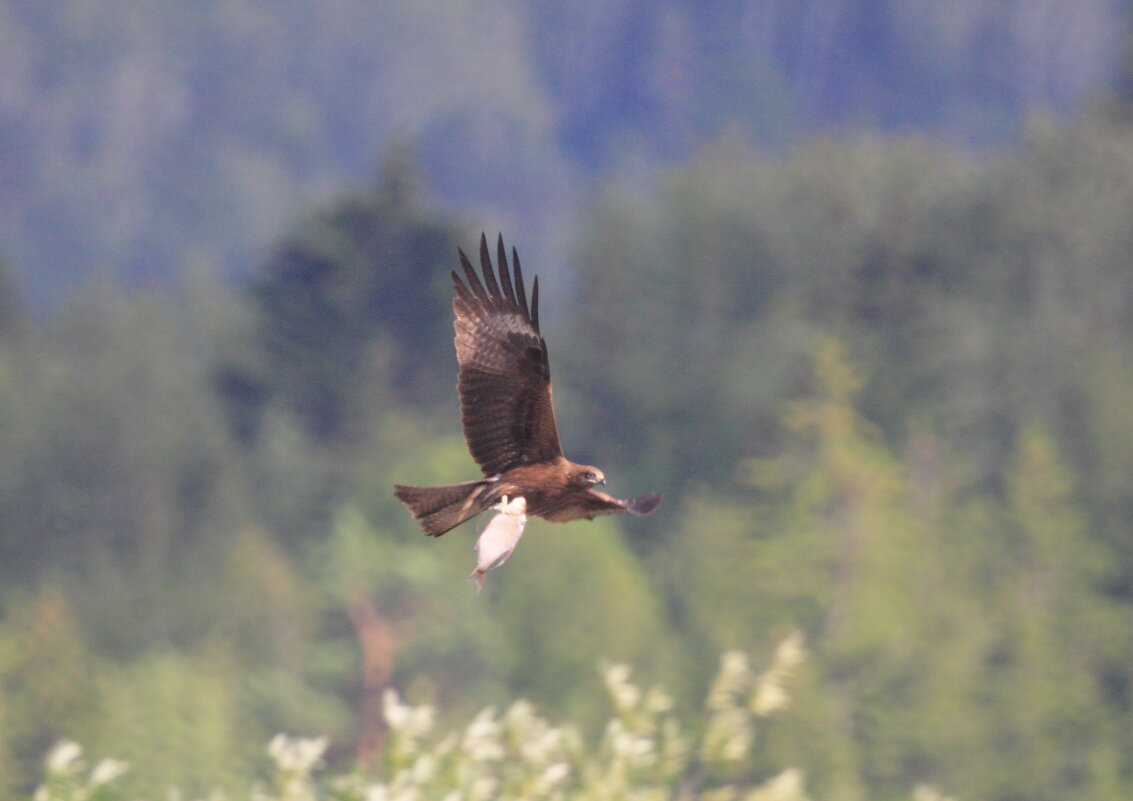
[[[377,383],[435,402],[437,367],[451,364],[457,246],[455,227],[421,206],[412,165],[394,157],[372,193],[334,202],[276,246],[252,289],[264,373],[242,381],[255,389],[258,380],[324,440],[358,431],[351,418],[372,408],[366,392]],[[229,376],[242,389],[240,380]],[[246,391],[233,402],[256,400]]]

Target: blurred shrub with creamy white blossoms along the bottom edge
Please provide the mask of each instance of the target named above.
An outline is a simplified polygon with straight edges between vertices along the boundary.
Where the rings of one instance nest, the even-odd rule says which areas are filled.
[[[804,656],[802,638],[780,644],[763,673],[739,651],[724,654],[704,718],[682,722],[661,688],[634,684],[625,665],[606,667],[614,716],[588,744],[571,724],[553,725],[525,700],[503,713],[485,709],[462,730],[435,732],[432,707],[384,698],[389,726],[380,775],[322,776],[325,738],[272,739],[274,775],[253,786],[250,801],[806,801],[802,774],[789,768],[761,781],[721,776],[751,755],[756,722],[790,704],[786,682]],[[117,801],[114,779],[128,767],[103,760],[87,769],[78,745],[48,757],[35,801]],[[919,787],[918,799],[937,798]],[[220,801],[218,794],[213,799]]]

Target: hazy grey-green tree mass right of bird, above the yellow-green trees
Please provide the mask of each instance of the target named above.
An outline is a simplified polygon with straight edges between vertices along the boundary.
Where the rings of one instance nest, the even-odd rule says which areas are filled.
[[[1020,421],[1041,419],[1090,471],[1083,359],[1121,365],[1131,341],[1131,143],[1101,117],[1037,122],[1021,153],[983,160],[869,137],[770,160],[723,137],[651,191],[613,185],[557,349],[587,393],[571,431],[671,492],[719,479],[774,451],[807,343],[833,333],[889,442],[930,423],[994,488]]]

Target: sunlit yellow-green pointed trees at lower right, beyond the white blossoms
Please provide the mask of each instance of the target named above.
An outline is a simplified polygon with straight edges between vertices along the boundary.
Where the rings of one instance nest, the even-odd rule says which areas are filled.
[[[1131,610],[1051,438],[1028,429],[1007,495],[981,497],[927,435],[892,453],[860,389],[844,350],[818,346],[787,451],[690,500],[675,547],[650,557],[697,588],[682,629],[701,653],[784,622],[809,633],[808,690],[769,748],[823,798],[925,781],[962,798],[1107,798],[1130,767],[1105,710],[1130,680]]]

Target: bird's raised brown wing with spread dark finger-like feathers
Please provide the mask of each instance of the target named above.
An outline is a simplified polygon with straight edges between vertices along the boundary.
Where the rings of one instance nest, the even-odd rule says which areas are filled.
[[[547,344],[539,335],[539,281],[531,287],[528,306],[519,254],[512,248],[513,278],[502,236],[497,252],[499,282],[483,233],[483,283],[462,250],[468,284],[452,273],[460,416],[468,450],[485,476],[562,455]]]

